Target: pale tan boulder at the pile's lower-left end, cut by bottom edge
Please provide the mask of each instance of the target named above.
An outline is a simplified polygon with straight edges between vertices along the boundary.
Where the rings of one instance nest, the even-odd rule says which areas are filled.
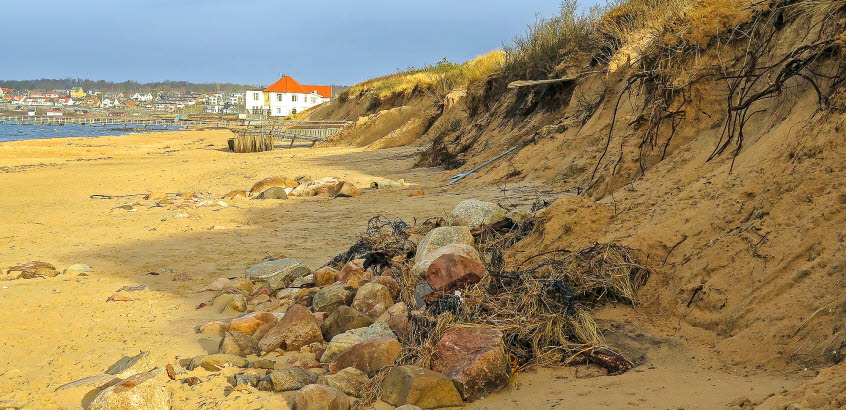
[[[170,392],[161,371],[154,370],[130,376],[101,391],[91,401],[92,410],[169,410]]]

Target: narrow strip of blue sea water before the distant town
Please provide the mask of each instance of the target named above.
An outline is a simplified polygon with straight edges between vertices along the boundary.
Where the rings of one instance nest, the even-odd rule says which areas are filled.
[[[177,130],[178,127],[168,127],[169,131]],[[161,128],[150,128],[145,130],[125,130],[122,126],[115,125],[20,125],[3,123],[0,124],[0,142],[21,141],[44,138],[67,138],[67,137],[102,137],[105,135],[126,135],[137,132],[162,131]]]

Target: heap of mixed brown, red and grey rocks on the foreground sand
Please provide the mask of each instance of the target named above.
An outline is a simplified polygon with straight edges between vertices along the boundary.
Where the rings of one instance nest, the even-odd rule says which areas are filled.
[[[295,183],[265,180],[251,191]],[[319,190],[316,186],[308,189]],[[498,214],[483,205],[474,203],[472,212],[460,208],[462,217],[490,223],[491,215]],[[96,386],[91,408],[97,409],[166,409],[176,405],[170,403],[168,388],[214,375],[234,389],[285,395],[281,400],[296,409],[348,409],[377,391],[376,398],[402,408],[461,406],[509,381],[503,334],[482,325],[453,327],[437,342],[431,365],[401,365],[412,347],[401,342],[408,340],[410,318],[426,306],[408,306],[400,294],[411,291],[425,298],[481,280],[487,271],[473,245],[466,225],[428,232],[415,259],[408,261],[427,289],[403,290],[396,278],[382,275],[380,265],[366,259],[317,270],[294,258],[257,263],[243,278],[220,278],[201,289],[210,296],[198,309],[230,317],[196,328],[201,337],[217,342],[216,352],[164,367],[141,360],[142,353],[76,386]]]

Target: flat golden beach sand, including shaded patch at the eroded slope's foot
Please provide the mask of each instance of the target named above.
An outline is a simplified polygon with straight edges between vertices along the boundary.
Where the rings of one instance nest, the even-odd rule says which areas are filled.
[[[0,266],[42,260],[60,269],[78,262],[96,269],[88,277],[0,282],[0,407],[79,407],[87,390],[53,390],[139,350],[150,350],[160,364],[204,353],[210,343],[193,328],[216,317],[195,310],[208,297],[196,291],[214,278],[241,276],[268,255],[317,267],[352,243],[373,215],[422,220],[466,198],[526,206],[539,189],[443,190],[437,185],[445,174],[410,169],[413,148],[236,155],[223,149],[227,136],[191,131],[0,144]],[[404,178],[409,185],[349,199],[241,199],[227,208],[185,210],[142,200],[127,211],[115,208],[135,199],[89,198],[148,191],[219,197],[275,175],[340,176],[362,187]],[[417,188],[428,194],[407,196]],[[189,217],[175,217],[183,212]],[[162,267],[164,274],[147,274]],[[173,281],[177,274],[192,280]],[[139,284],[148,288],[132,293],[134,301],[106,301]],[[530,371],[470,407],[713,408],[738,397],[762,400],[801,382],[795,375],[727,369],[707,346],[653,328],[660,317],[623,308],[598,316],[607,337],[637,358],[635,370],[619,377],[596,377],[589,368]],[[172,383],[179,408],[272,407],[272,394],[229,394],[222,378],[201,376],[208,381],[193,388]]]

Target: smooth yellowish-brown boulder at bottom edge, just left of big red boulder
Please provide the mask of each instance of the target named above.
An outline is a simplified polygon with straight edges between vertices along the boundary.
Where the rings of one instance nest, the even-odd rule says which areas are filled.
[[[381,399],[394,406],[412,404],[423,409],[463,406],[449,377],[417,366],[397,366],[382,380]]]

